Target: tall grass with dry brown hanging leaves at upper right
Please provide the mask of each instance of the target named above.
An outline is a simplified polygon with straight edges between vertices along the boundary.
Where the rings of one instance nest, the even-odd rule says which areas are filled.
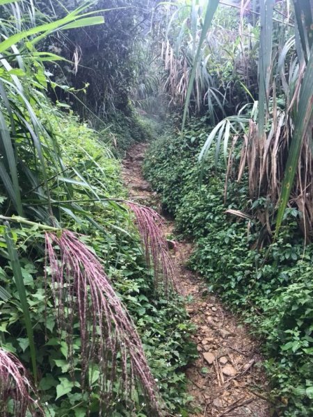
[[[234,39],[238,48],[234,56],[228,53],[232,47],[225,35],[218,38],[220,56],[225,55],[227,50],[233,69],[227,89],[220,88],[218,92],[212,90],[209,83],[203,83],[200,75],[205,72],[206,79],[212,79],[213,74],[216,76],[218,58],[214,56],[211,59],[214,40],[208,35],[208,23],[214,17],[217,2],[207,2],[207,13],[202,13],[201,27],[195,23],[196,17],[201,17],[198,2],[184,6],[184,10],[190,13],[186,15],[185,11],[186,19],[180,24],[177,49],[170,45],[168,39],[163,48],[165,68],[169,72],[166,82],[184,99],[183,126],[188,109],[194,104],[197,107],[203,97],[214,97],[215,111],[222,106],[229,112],[231,107],[227,106],[226,96],[234,91],[232,83],[240,84],[248,103],[239,101],[236,115],[233,110],[231,115],[221,120],[223,113],[220,112],[216,120],[212,116],[211,104],[207,104],[214,129],[202,148],[200,162],[203,166],[205,156],[214,143],[218,155],[223,142],[226,165],[228,155],[240,149],[238,179],[240,181],[244,170],[247,170],[250,197],[266,196],[274,203],[277,208],[276,236],[289,204],[298,208],[305,239],[312,240],[312,8],[309,0],[294,1],[294,8],[273,0],[262,0],[259,5],[259,12],[252,8],[249,12],[248,2],[241,2],[236,17],[237,26],[226,28],[226,32],[236,33]],[[225,6],[220,7],[225,10]],[[172,15],[170,25],[177,24],[177,15],[182,13],[179,10],[177,8],[176,15]],[[252,13],[253,19],[249,13]],[[212,32],[218,37],[216,23]],[[182,44],[193,51],[193,58],[186,60],[187,55],[179,49]],[[257,73],[256,67],[255,72],[251,72],[250,68],[256,47]],[[227,66],[227,60],[223,63]],[[182,72],[177,72],[177,65],[182,65]],[[245,74],[244,78],[242,74]],[[256,74],[258,88],[249,90],[247,85],[254,85]],[[184,92],[181,88],[183,84]],[[238,104],[241,105],[239,111]],[[273,231],[269,229],[268,232],[272,234]]]

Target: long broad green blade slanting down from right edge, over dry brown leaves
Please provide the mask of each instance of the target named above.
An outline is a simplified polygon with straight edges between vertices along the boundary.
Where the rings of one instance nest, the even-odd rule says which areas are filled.
[[[298,111],[294,125],[294,136],[291,139],[289,148],[287,166],[284,173],[284,181],[282,182],[282,192],[280,195],[280,203],[278,206],[278,216],[276,221],[275,236],[278,236],[284,210],[287,206],[291,187],[294,183],[296,169],[300,157],[300,151],[303,139],[307,133],[308,126],[313,120],[313,48],[310,53],[310,60],[307,63],[307,69],[300,90],[300,98],[298,103]]]

